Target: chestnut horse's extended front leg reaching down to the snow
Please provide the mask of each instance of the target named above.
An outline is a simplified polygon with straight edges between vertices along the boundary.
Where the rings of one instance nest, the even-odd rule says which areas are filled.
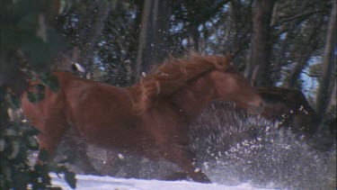
[[[181,167],[183,172],[185,172],[187,176],[190,176],[193,181],[211,183],[208,176],[206,176],[200,168],[193,165],[193,162],[195,165],[198,165],[198,163],[194,160],[195,154],[190,149],[185,147],[179,148],[176,146],[173,149],[170,149],[170,153],[166,154],[166,158]],[[173,174],[173,176],[170,176],[169,179],[174,179],[174,177],[181,178],[183,176],[182,173],[176,173]]]

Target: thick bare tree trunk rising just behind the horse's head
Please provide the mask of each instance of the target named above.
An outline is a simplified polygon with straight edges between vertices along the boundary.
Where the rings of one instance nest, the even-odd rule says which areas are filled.
[[[270,59],[270,20],[274,0],[257,0],[253,14],[253,36],[249,63],[245,76],[253,86],[269,86],[268,65]]]

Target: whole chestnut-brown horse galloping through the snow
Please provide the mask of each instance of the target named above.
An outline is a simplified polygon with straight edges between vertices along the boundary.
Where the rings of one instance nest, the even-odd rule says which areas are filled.
[[[211,101],[230,101],[250,113],[262,98],[230,65],[230,58],[191,55],[170,59],[135,86],[117,87],[56,72],[58,93],[45,91],[35,104],[22,96],[25,116],[40,130],[50,157],[67,128],[89,143],[119,149],[182,168],[185,176],[209,182],[188,149],[188,126]],[[182,175],[182,174],[180,174]]]

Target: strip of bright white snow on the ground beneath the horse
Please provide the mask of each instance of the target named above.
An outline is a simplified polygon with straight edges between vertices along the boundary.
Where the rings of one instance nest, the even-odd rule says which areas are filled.
[[[52,184],[62,187],[64,190],[72,189],[67,185],[63,176],[50,175]],[[250,184],[241,184],[235,186],[220,185],[220,184],[200,184],[189,181],[160,181],[160,180],[145,180],[145,179],[125,179],[114,178],[111,176],[85,176],[76,175],[78,190],[254,190],[262,189],[253,187]]]

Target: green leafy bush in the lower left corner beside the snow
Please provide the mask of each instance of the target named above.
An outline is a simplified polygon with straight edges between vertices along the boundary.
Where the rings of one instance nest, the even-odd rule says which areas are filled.
[[[4,92],[1,95],[1,107],[17,104],[15,97],[9,95],[10,101],[5,101]],[[3,115],[2,115],[3,116]],[[2,119],[5,119],[2,117]],[[63,164],[67,160],[56,163],[48,160],[48,152],[40,150],[40,164],[32,167],[29,153],[39,149],[39,143],[34,138],[39,133],[35,128],[22,122],[7,122],[0,128],[0,189],[49,189],[49,172],[63,173],[72,188],[75,188],[75,173],[67,170]]]

